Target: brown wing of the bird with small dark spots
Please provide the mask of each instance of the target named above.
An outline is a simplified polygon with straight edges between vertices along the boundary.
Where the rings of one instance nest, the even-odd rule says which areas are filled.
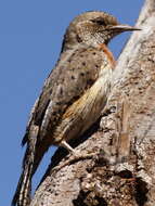
[[[96,80],[103,55],[95,48],[66,51],[49,75],[42,92],[33,108],[27,132],[39,126],[40,137],[52,132],[66,108],[79,99]],[[27,134],[23,143],[27,142]]]

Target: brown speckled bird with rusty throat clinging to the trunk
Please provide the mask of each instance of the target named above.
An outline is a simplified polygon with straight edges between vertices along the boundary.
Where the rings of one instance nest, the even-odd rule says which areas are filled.
[[[12,206],[30,204],[31,178],[51,145],[76,154],[68,141],[81,137],[106,104],[115,59],[107,48],[117,35],[139,30],[102,11],[76,16],[66,29],[60,59],[46,79],[26,127],[22,175]]]

